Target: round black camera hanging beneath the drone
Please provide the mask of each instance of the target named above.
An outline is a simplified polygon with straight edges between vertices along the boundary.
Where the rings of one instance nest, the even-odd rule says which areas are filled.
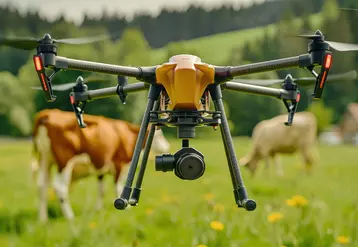
[[[183,147],[174,155],[163,154],[155,157],[156,171],[173,171],[182,180],[195,180],[205,171],[204,155],[190,147]]]

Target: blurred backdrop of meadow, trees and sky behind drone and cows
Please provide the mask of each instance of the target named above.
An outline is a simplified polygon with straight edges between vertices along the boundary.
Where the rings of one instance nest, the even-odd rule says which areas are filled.
[[[40,38],[50,33],[55,38],[72,38],[108,33],[115,34],[115,38],[90,45],[61,45],[59,55],[147,66],[186,53],[209,64],[240,65],[305,54],[307,40],[288,36],[317,29],[327,40],[358,43],[358,10],[340,8],[358,9],[358,2],[0,0],[0,36]],[[287,169],[283,178],[268,178],[263,173],[251,178],[243,171],[250,195],[258,201],[254,212],[233,207],[225,153],[221,140],[215,141],[220,135],[211,128],[202,128],[200,138],[193,142],[207,155],[207,174],[202,181],[183,182],[174,175],[158,174],[151,167],[138,208],[119,212],[112,206],[115,196],[109,178],[106,210],[98,213],[92,208],[96,180],[88,178],[71,191],[78,215],[75,223],[63,219],[55,201],[49,209],[50,225],[39,225],[35,182],[26,170],[30,169],[29,140],[34,116],[46,108],[72,108],[69,91],[56,92],[56,102],[48,103],[42,91],[30,88],[40,85],[33,54],[34,51],[0,47],[1,246],[358,246],[358,229],[354,225],[358,220],[354,192],[354,188],[358,189],[356,80],[327,84],[322,100],[314,103],[310,100],[313,86],[300,89],[298,111],[310,111],[318,120],[322,157],[318,171],[310,177],[301,174],[299,156],[283,157]],[[356,52],[334,53],[333,59],[332,74],[358,68]],[[290,69],[241,78],[283,79],[287,73],[311,76],[307,70]],[[53,84],[74,82],[79,75],[89,76],[79,71],[60,72]],[[113,77],[113,82],[92,83],[90,89],[116,85],[116,77],[107,77]],[[281,101],[270,97],[226,91],[223,94],[239,157],[249,151],[257,123],[287,112]],[[146,100],[146,92],[129,95],[126,105],[118,97],[111,97],[92,101],[85,111],[139,124]],[[163,131],[176,151],[180,147],[176,130]],[[213,154],[213,150],[220,151],[220,155]],[[164,186],[158,183],[158,177]],[[297,208],[290,213],[292,209],[285,208],[285,198],[301,194],[309,205],[318,206],[312,206],[311,211]],[[287,214],[287,222],[273,226],[267,215],[276,211]],[[220,230],[220,224],[215,227],[215,223],[222,224],[224,230]]]

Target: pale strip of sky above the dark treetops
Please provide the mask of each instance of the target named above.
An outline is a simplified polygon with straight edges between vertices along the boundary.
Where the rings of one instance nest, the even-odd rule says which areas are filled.
[[[222,3],[234,3],[235,5],[251,5],[254,2],[265,0],[0,0],[0,5],[11,3],[21,12],[28,9],[40,11],[41,16],[53,20],[63,13],[65,18],[79,24],[83,20],[84,13],[98,16],[106,9],[108,13],[126,13],[130,19],[136,12],[150,12],[155,15],[160,8],[179,7],[185,8],[190,3],[200,3],[204,6],[218,6]]]

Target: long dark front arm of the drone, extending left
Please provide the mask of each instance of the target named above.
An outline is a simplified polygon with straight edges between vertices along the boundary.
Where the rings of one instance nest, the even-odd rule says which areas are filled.
[[[98,72],[105,74],[135,77],[140,81],[151,82],[155,78],[156,66],[151,67],[130,67],[113,64],[97,63],[84,60],[71,59],[57,56],[55,58],[55,68],[70,69],[88,72]]]

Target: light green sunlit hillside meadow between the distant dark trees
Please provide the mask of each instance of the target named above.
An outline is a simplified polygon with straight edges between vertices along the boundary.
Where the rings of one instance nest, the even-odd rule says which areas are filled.
[[[310,16],[310,21],[314,28],[319,28],[322,22],[321,14],[313,14]],[[295,25],[301,25],[302,19],[296,18],[294,20]],[[226,33],[220,33],[215,35],[210,35],[206,37],[200,37],[197,39],[174,42],[178,44],[183,44],[184,48],[189,50],[195,50],[203,62],[215,64],[215,65],[225,65],[228,56],[234,47],[242,47],[246,42],[255,41],[263,37],[265,31],[268,31],[269,35],[274,35],[277,31],[277,25],[271,24],[267,26],[244,29],[239,31],[232,31]],[[314,31],[314,30],[312,30]],[[293,27],[291,33],[292,35],[299,34],[295,33],[295,28]],[[167,47],[160,49],[154,49],[152,51],[153,60],[159,63],[166,62]],[[259,61],[257,61],[259,62]]]

